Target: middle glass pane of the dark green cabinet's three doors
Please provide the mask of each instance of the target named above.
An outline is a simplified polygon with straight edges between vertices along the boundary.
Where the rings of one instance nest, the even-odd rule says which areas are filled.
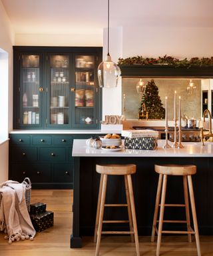
[[[50,126],[70,123],[70,56],[49,55],[48,119]]]

